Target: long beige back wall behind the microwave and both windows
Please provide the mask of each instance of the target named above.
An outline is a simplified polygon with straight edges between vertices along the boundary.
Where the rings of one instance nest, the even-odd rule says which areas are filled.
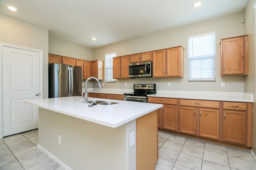
[[[134,83],[156,83],[158,90],[190,90],[190,91],[227,91],[244,92],[244,76],[220,77],[220,44],[222,38],[244,35],[244,13],[238,12],[204,22],[153,33],[128,41],[118,42],[93,50],[93,60],[105,61],[105,54],[116,52],[117,56],[129,55],[162,48],[182,45],[184,50],[184,78],[136,78],[117,80],[116,83],[105,83],[103,88],[132,89]],[[139,29],[139,28],[138,28]],[[216,81],[188,82],[188,36],[216,31]],[[101,81],[102,83],[103,81]],[[167,86],[171,82],[171,87]],[[226,88],[220,87],[226,82]],[[124,86],[127,83],[127,86]],[[96,84],[94,87],[96,88]]]

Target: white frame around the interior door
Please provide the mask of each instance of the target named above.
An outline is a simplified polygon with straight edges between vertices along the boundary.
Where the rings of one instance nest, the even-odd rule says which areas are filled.
[[[2,88],[3,88],[3,82],[2,82],[2,54],[3,54],[3,47],[11,47],[11,48],[19,48],[19,49],[24,49],[24,50],[29,50],[29,51],[35,51],[39,52],[39,74],[40,74],[40,99],[43,99],[43,50],[38,50],[38,49],[33,49],[33,48],[27,48],[27,47],[21,47],[21,46],[16,46],[12,44],[5,44],[0,42],[0,139],[3,138],[3,93],[2,93]]]

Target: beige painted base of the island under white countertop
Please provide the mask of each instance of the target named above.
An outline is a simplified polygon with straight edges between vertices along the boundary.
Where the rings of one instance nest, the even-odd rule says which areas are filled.
[[[39,108],[39,148],[73,170],[134,170],[136,144],[130,147],[129,143],[133,131],[136,120],[110,128]]]

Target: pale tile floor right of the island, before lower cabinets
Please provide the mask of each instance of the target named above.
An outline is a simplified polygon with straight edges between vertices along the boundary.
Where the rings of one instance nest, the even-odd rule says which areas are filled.
[[[158,131],[156,170],[256,170],[249,151]]]

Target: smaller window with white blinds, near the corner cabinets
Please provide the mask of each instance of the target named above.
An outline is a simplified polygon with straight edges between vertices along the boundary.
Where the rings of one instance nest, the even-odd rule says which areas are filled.
[[[105,54],[106,82],[116,82],[116,79],[113,79],[113,57],[116,57],[116,52]]]

